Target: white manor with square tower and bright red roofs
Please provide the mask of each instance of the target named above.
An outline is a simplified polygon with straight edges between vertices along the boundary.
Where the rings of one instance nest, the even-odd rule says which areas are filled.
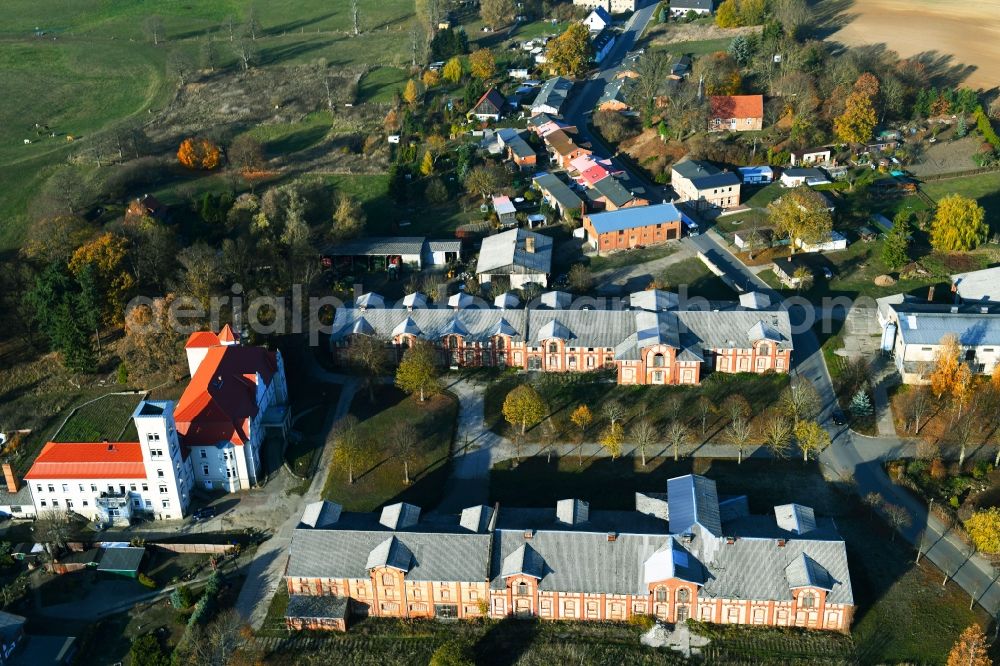
[[[175,404],[143,400],[138,442],[49,442],[25,475],[38,513],[68,510],[104,525],[143,516],[176,520],[197,483],[228,492],[261,478],[267,430],[288,430],[280,352],[243,345],[228,325],[193,333],[191,381]]]

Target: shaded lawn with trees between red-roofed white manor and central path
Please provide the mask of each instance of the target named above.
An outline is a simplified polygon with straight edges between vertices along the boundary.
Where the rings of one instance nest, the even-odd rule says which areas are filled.
[[[458,401],[442,393],[420,403],[390,386],[380,387],[375,402],[361,391],[351,405],[351,413],[361,420],[362,437],[372,442],[372,462],[355,470],[355,482],[347,483],[347,470],[330,468],[323,497],[338,502],[348,511],[372,511],[392,502],[410,502],[425,510],[441,497],[448,476],[451,441],[455,432]],[[392,451],[392,427],[412,423],[420,435],[418,452],[410,462],[411,484],[403,484],[403,465]]]

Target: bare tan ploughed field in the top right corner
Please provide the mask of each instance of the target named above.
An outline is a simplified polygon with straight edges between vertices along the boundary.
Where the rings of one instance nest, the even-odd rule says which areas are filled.
[[[885,44],[903,57],[933,54],[933,73],[965,84],[1000,86],[1000,0],[855,0],[838,15],[830,39],[851,46]]]

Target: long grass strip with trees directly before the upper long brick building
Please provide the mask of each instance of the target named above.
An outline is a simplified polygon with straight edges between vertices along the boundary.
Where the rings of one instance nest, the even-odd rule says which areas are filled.
[[[633,421],[649,419],[654,425],[665,427],[674,413],[686,414],[692,430],[701,434],[701,424],[695,423],[695,403],[702,395],[715,405],[721,405],[729,395],[741,394],[747,398],[754,414],[763,412],[778,398],[788,384],[782,374],[755,375],[751,373],[726,375],[716,373],[699,386],[618,386],[611,379],[602,381],[600,373],[543,374],[532,386],[545,400],[549,416],[526,433],[526,440],[535,443],[578,441],[579,431],[569,416],[578,405],[587,405],[594,420],[585,436],[588,442],[597,441],[607,426],[602,415],[603,406],[618,401],[626,408],[623,423],[626,429]],[[503,417],[503,401],[519,384],[529,380],[525,374],[509,374],[493,381],[486,388],[485,420],[487,427],[507,432],[509,424]],[[720,414],[709,416],[707,436],[711,437],[725,425]],[[700,437],[698,438],[701,441]]]

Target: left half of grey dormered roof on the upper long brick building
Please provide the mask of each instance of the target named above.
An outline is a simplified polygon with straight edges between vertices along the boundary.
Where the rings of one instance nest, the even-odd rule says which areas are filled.
[[[467,338],[474,342],[487,342],[501,329],[507,330],[516,341],[526,333],[527,315],[524,310],[452,310],[451,308],[427,308],[413,311],[404,308],[387,310],[367,310],[341,308],[333,320],[334,342],[351,335],[358,319],[364,318],[372,327],[375,337],[390,340],[395,335],[406,332],[429,340],[440,340],[458,321],[468,331]],[[511,333],[513,330],[513,333]]]

